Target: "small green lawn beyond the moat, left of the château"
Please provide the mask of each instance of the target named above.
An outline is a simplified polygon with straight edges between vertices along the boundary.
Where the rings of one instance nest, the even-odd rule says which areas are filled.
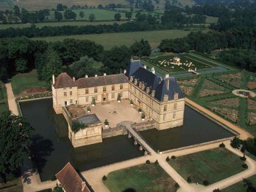
[[[37,79],[36,69],[33,69],[29,73],[16,74],[12,77],[11,82],[15,96],[19,96],[29,88],[45,87],[45,83]]]

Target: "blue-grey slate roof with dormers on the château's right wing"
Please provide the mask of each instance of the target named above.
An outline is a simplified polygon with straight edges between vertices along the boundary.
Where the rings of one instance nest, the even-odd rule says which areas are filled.
[[[177,84],[174,77],[169,77],[162,79],[161,77],[157,77],[148,69],[145,69],[140,61],[132,61],[126,69],[126,76],[133,77],[133,82],[137,79],[138,82],[143,82],[145,87],[150,87],[151,90],[149,94],[155,90],[155,99],[158,101],[163,101],[165,94],[168,95],[169,100],[174,99],[174,93],[179,93],[179,99],[185,98],[182,90]],[[137,84],[139,85],[139,83]],[[146,91],[146,88],[145,88]]]

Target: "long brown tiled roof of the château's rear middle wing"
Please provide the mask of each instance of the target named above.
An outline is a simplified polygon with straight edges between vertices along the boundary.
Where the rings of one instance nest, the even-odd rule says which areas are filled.
[[[99,87],[105,85],[115,85],[127,83],[127,77],[124,74],[113,74],[108,76],[80,78],[76,80],[78,88]]]

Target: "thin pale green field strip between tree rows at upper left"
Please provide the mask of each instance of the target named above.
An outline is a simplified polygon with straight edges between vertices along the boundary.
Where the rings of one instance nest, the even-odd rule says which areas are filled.
[[[127,23],[127,21],[105,21],[105,22],[87,22],[87,21],[64,21],[64,22],[48,22],[48,23],[35,23],[36,27],[44,27],[44,26],[52,26],[52,27],[60,27],[60,26],[88,26],[88,25],[99,25],[99,24],[123,24]],[[30,24],[0,24],[0,29],[8,29],[9,27],[13,28],[24,28],[30,27]]]

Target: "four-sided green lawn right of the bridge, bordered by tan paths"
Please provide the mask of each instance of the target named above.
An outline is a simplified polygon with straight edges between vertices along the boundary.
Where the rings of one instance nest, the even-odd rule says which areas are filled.
[[[187,180],[191,177],[193,183],[207,180],[210,184],[244,171],[243,161],[225,148],[210,149],[194,154],[176,157],[170,160],[172,168]]]

